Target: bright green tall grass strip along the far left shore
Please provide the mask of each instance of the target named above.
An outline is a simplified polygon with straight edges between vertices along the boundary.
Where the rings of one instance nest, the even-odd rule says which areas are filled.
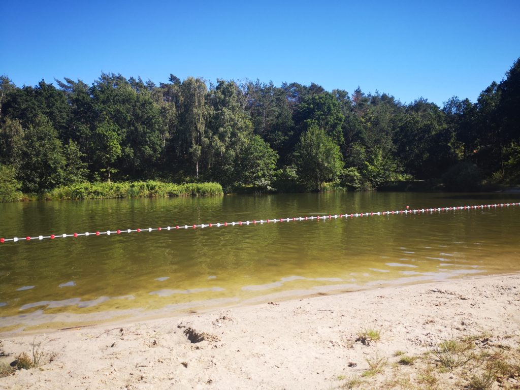
[[[218,183],[173,184],[162,181],[123,181],[121,183],[78,183],[57,187],[41,197],[54,199],[105,199],[105,198],[164,198],[201,195],[221,195]]]

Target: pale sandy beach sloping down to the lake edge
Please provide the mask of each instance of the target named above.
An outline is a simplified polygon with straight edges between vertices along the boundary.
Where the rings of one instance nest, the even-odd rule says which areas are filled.
[[[41,351],[6,389],[520,388],[520,275],[1,340],[4,372]]]

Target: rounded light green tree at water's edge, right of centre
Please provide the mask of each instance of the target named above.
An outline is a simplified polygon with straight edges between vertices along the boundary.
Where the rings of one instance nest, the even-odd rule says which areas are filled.
[[[302,134],[295,154],[298,176],[309,189],[319,191],[323,183],[341,174],[340,147],[316,125]]]

